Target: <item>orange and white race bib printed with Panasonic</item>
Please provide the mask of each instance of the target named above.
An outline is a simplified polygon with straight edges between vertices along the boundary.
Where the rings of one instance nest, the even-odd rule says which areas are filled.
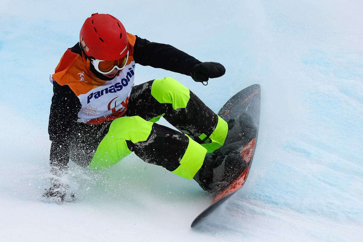
[[[134,85],[135,61],[133,45],[136,37],[129,37],[129,59],[126,66],[111,81],[97,78],[89,70],[89,61],[68,49],[62,56],[51,81],[68,85],[81,102],[78,117],[84,123],[100,124],[121,117],[127,109]]]

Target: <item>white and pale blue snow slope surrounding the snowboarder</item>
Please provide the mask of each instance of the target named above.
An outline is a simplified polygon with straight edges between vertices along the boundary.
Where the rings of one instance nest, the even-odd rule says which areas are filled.
[[[227,69],[203,86],[137,65],[136,84],[174,77],[216,112],[237,91],[261,85],[249,178],[197,229],[189,225],[211,197],[135,155],[101,173],[71,163],[78,200],[41,201],[49,74],[94,12]],[[362,241],[362,12],[360,0],[1,0],[0,240]]]

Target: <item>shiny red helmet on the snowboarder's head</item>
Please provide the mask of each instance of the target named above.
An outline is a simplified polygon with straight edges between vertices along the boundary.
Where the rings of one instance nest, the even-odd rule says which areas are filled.
[[[129,40],[118,19],[109,14],[93,13],[82,25],[79,44],[88,57],[114,61],[126,57]]]

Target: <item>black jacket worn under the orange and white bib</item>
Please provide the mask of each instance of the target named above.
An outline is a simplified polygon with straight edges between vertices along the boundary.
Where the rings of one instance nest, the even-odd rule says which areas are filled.
[[[82,55],[79,43],[73,46],[72,52]],[[134,45],[134,60],[143,66],[152,66],[177,73],[190,75],[193,65],[200,63],[196,58],[171,45],[150,42],[136,36]],[[90,66],[91,71],[98,78],[108,81]],[[53,97],[49,114],[50,166],[53,175],[60,175],[68,169],[70,143],[77,126],[78,112],[81,103],[68,85],[61,86],[53,82]],[[91,124],[89,124],[91,125]]]

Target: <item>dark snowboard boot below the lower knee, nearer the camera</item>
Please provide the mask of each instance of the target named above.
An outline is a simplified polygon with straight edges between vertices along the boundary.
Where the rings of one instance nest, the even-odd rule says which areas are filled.
[[[220,156],[207,154],[193,179],[203,190],[216,195],[236,180],[246,167],[247,164],[239,152]]]

